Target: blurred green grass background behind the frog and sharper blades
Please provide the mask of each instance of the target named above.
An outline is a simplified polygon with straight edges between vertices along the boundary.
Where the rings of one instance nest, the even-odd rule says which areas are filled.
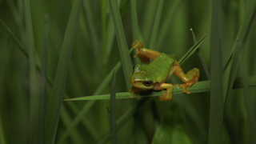
[[[215,116],[221,124],[223,122],[222,126],[214,126],[210,123],[214,121],[214,119],[210,121],[210,118],[213,118],[210,117],[212,114],[210,103],[213,102],[210,97],[218,97],[210,93],[213,89],[200,92],[199,87],[198,93],[174,94],[169,102],[159,102],[158,97],[140,100],[117,99],[116,118],[119,124],[116,129],[116,142],[140,144],[256,142],[255,0],[117,1],[123,34],[129,49],[131,43],[140,38],[146,48],[166,54],[176,54],[176,58],[180,59],[194,45],[190,28],[194,30],[198,40],[210,30],[199,48],[206,66],[200,64],[198,54],[195,53],[182,64],[182,69],[187,72],[198,67],[201,70],[199,81],[214,79],[214,77],[207,78],[203,68],[210,70],[210,64],[214,65],[214,62],[210,62],[215,58],[211,50],[216,48],[213,43],[217,41],[219,47],[216,50],[220,50],[218,53],[220,57],[216,57],[215,66],[225,71],[224,67],[232,54],[233,59],[229,65],[231,68],[227,66],[229,73],[221,74],[218,70],[210,70],[210,73],[222,78],[220,86],[223,87],[223,91],[228,90],[225,88],[227,85],[232,89],[233,84],[234,88],[239,89],[231,90],[230,94],[223,92],[219,97],[223,99],[220,103],[224,106],[221,106],[221,112],[217,110]],[[62,102],[64,93],[66,94],[64,98],[95,94],[95,90],[122,57],[122,54],[119,54],[118,36],[115,35],[109,1],[30,0],[31,15],[28,16],[32,19],[33,27],[27,24],[28,20],[25,17],[26,10],[29,10],[25,6],[26,2],[29,1],[0,0],[2,21],[0,24],[0,143],[111,143],[109,131],[111,126],[107,110],[110,107],[110,100]],[[159,4],[161,2],[162,5]],[[72,10],[77,10],[80,14],[77,14],[77,20],[71,14]],[[118,14],[117,11],[114,13]],[[214,17],[215,13],[218,13],[217,18]],[[75,19],[70,20],[74,25],[68,25],[70,18]],[[217,22],[218,26],[214,26],[214,22]],[[4,25],[9,27],[13,35]],[[26,35],[28,26],[33,30],[34,40]],[[67,30],[68,27],[71,28],[70,31]],[[218,31],[217,36],[213,34],[215,30]],[[245,33],[242,40],[238,37],[241,33]],[[14,37],[17,38],[16,41]],[[20,42],[21,46],[18,46],[17,42]],[[32,49],[29,48],[29,42],[34,42],[34,49],[33,46]],[[63,64],[67,75],[63,76],[64,80],[60,82],[62,85],[55,85],[58,79],[56,75],[65,75],[65,71],[62,73],[61,69],[57,70],[58,64],[63,60],[60,54],[64,51],[65,42],[74,42],[74,46],[70,45],[70,51],[67,53],[71,54],[70,59],[66,58],[67,63],[65,66]],[[21,47],[29,53],[29,58]],[[33,50],[35,50],[34,54]],[[34,64],[41,66],[37,67],[35,73],[38,76],[34,79],[31,79],[33,61],[30,61],[30,58],[33,57],[30,54],[34,56]],[[138,58],[133,58],[133,55],[130,54],[130,58],[134,66],[140,62]],[[218,58],[221,58],[220,62]],[[132,67],[126,67],[126,70],[127,68],[132,70]],[[116,71],[117,93],[128,92],[129,86],[126,86],[127,78],[124,70],[120,68]],[[112,75],[110,76],[112,78]],[[50,82],[49,78],[55,82]],[[230,81],[232,78],[236,80]],[[169,82],[182,83],[176,76]],[[240,82],[240,85],[236,86],[236,82]],[[60,92],[58,98],[61,105],[56,103],[54,106],[54,101],[50,102],[54,97],[51,91],[55,90],[53,83],[64,90],[64,93]],[[218,83],[214,84],[214,86],[218,85]],[[110,86],[111,82],[104,83],[96,94],[110,94]],[[34,107],[39,106],[34,116],[35,119],[39,118],[35,122],[39,128],[35,130],[30,128],[33,126],[31,125],[31,111],[34,110],[34,101],[31,100],[33,91],[38,92],[38,95],[41,94],[40,98],[42,98],[38,99],[38,103],[41,102],[40,106],[34,104]],[[228,104],[227,98],[229,98]],[[61,108],[60,112],[53,114],[54,117],[48,114],[51,110],[58,111],[58,108]],[[57,118],[55,125],[58,126],[56,135],[50,134],[52,127],[47,127],[49,125],[45,124],[54,121],[54,118]],[[211,126],[215,128],[211,129]],[[221,130],[220,133],[214,131],[218,128]],[[214,138],[216,133],[220,136]],[[48,137],[51,137],[51,141]]]

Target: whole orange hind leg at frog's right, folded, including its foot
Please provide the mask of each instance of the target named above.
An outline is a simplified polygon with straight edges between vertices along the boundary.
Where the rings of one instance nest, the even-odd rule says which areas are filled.
[[[190,94],[190,86],[192,86],[195,82],[198,82],[200,71],[198,68],[194,68],[185,74],[181,66],[179,66],[178,62],[175,60],[174,74],[177,75],[178,78],[181,78],[183,82],[185,82],[183,84],[174,84],[174,86],[180,86],[183,88],[183,93]]]

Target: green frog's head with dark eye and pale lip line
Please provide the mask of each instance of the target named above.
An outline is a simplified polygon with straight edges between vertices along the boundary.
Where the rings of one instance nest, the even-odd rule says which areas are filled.
[[[130,83],[140,89],[152,89],[154,87],[149,70],[139,64],[134,66],[133,74],[130,74]]]

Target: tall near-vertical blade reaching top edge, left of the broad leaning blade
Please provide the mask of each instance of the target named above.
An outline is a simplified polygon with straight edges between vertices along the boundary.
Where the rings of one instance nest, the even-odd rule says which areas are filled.
[[[40,126],[40,90],[38,90],[38,74],[35,62],[35,48],[34,48],[34,34],[32,19],[30,13],[30,1],[24,0],[25,18],[26,18],[26,38],[28,46],[28,55],[30,57],[30,124],[29,124],[29,142],[41,143],[42,137],[39,136],[39,131],[43,130],[43,126]]]

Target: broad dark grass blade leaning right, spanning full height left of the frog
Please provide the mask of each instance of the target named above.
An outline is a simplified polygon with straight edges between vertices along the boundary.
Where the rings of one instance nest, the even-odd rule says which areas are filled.
[[[46,111],[46,143],[54,143],[62,97],[66,83],[68,64],[74,44],[74,37],[78,27],[78,18],[81,11],[82,0],[74,1],[70,12],[70,18],[66,26],[66,33],[62,43],[62,51],[59,56],[58,67],[54,78],[54,86],[50,94],[50,100]]]

